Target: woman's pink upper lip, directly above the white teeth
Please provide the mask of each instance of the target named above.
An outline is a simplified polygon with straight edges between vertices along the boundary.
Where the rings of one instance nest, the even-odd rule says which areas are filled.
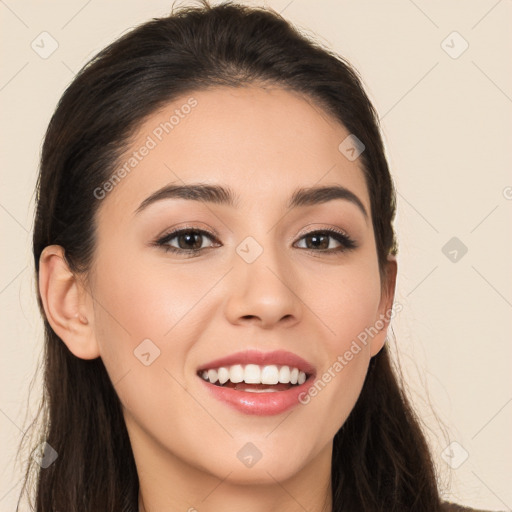
[[[275,350],[273,352],[260,352],[258,350],[245,350],[243,352],[235,352],[227,357],[215,359],[201,365],[197,371],[209,370],[213,368],[220,368],[221,366],[232,366],[235,364],[257,364],[261,366],[276,365],[276,366],[292,366],[303,371],[307,375],[315,373],[315,367],[292,352],[286,350]]]

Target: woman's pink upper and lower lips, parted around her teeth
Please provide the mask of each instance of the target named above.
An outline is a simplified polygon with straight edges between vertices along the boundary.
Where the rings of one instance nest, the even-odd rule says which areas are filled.
[[[292,366],[307,374],[306,382],[299,386],[292,386],[286,391],[268,393],[251,393],[236,391],[232,388],[216,386],[199,377],[206,389],[221,402],[244,413],[257,416],[280,414],[300,403],[299,397],[306,394],[315,381],[315,368],[301,357],[284,350],[274,352],[259,352],[247,350],[237,352],[222,359],[210,361],[198,368],[198,374],[203,370],[232,366],[234,364],[258,364],[261,366],[275,364],[278,366]],[[304,396],[302,395],[302,396]]]

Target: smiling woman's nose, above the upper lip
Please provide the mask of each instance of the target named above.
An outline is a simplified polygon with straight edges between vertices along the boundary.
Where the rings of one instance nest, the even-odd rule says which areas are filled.
[[[283,248],[270,243],[260,245],[251,237],[246,240],[233,257],[226,317],[233,324],[254,323],[263,329],[279,323],[295,325],[301,320],[303,303],[294,290],[298,280],[285,260]]]

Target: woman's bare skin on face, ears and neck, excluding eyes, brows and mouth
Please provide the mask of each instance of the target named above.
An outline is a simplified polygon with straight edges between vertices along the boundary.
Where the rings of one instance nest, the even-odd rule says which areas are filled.
[[[349,201],[286,209],[299,186],[337,184],[371,211],[359,159],[338,150],[348,131],[298,93],[191,93],[148,118],[127,155],[191,96],[197,106],[101,199],[87,279],[69,271],[61,247],[45,249],[45,312],[73,354],[103,359],[123,405],[141,511],[329,511],[332,440],[388,321],[307,405],[280,415],[231,409],[206,393],[196,369],[246,348],[284,349],[321,376],[365,328],[389,318],[396,260],[381,282],[371,216]],[[238,206],[165,199],[134,214],[159,188],[198,181],[231,187]],[[207,249],[195,257],[151,245],[185,224],[216,234],[219,245],[204,236]],[[304,235],[329,228],[357,248],[308,250]],[[263,249],[251,264],[235,250],[247,236]],[[148,338],[161,352],[145,366],[134,350]],[[262,454],[252,467],[236,456],[248,442]]]

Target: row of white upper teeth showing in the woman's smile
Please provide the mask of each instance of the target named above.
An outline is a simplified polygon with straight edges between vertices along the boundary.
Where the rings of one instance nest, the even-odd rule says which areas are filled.
[[[246,384],[304,384],[306,374],[298,368],[289,366],[258,366],[247,364],[245,368],[241,364],[229,367],[220,367],[210,370],[203,370],[201,376],[212,384],[219,381],[224,384],[230,380],[233,384],[245,382]]]

